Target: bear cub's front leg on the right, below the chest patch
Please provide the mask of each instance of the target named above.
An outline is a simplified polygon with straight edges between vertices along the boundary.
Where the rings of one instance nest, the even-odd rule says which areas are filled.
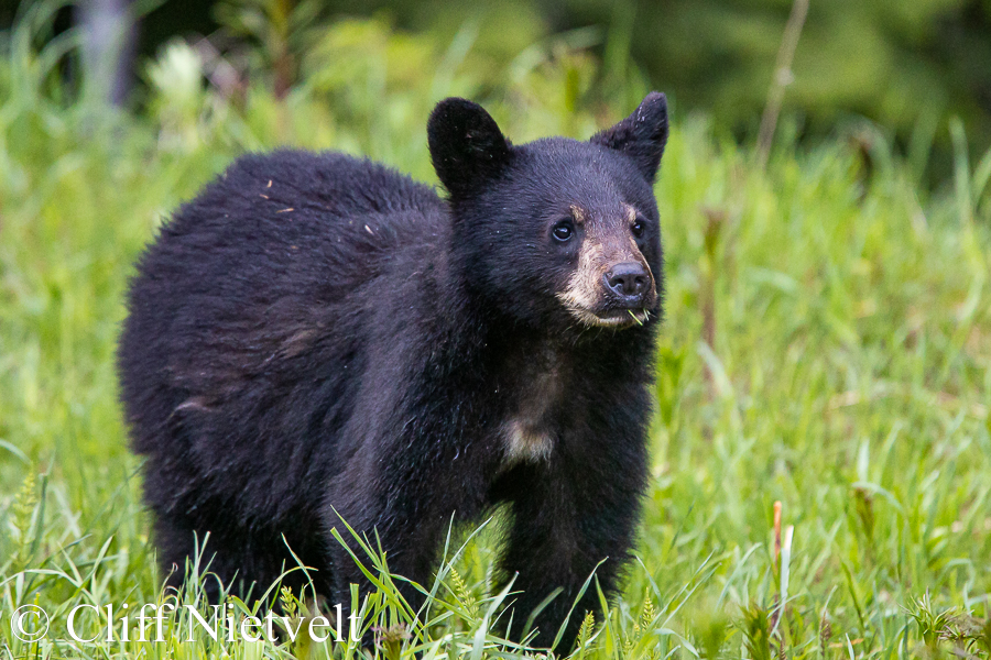
[[[510,638],[522,637],[534,609],[556,590],[560,592],[533,620],[531,629],[537,634],[531,645],[549,647],[567,618],[555,649],[567,654],[586,613],[593,612],[601,620],[595,581],[607,597],[614,595],[639,518],[640,472],[612,472],[603,480],[595,469],[573,473],[552,459],[551,465],[518,466],[500,484],[512,503],[512,527],[501,560],[503,584],[515,578],[512,604],[502,615],[505,627],[512,614]],[[578,598],[592,572],[595,578]]]

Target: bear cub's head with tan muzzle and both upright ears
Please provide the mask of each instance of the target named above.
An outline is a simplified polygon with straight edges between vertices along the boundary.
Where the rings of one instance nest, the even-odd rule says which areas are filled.
[[[578,329],[658,316],[653,184],[667,141],[663,94],[588,142],[513,145],[480,106],[457,98],[437,106],[427,135],[448,191],[455,260],[501,314]]]

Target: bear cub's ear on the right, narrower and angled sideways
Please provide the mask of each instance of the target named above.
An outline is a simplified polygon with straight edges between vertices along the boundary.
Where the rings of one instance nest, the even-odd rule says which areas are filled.
[[[653,184],[667,144],[667,97],[652,91],[633,114],[611,129],[596,133],[589,142],[624,153]]]

